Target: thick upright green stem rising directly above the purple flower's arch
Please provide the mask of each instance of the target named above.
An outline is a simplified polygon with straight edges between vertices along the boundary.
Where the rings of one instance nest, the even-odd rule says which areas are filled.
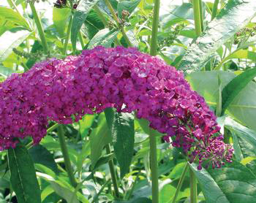
[[[158,24],[159,24],[159,8],[160,8],[160,0],[154,0],[154,15],[153,15],[152,34],[151,34],[150,55],[157,55],[157,32],[158,32]]]

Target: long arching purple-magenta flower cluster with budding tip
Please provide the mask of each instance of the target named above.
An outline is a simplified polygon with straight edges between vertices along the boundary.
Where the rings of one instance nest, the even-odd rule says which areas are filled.
[[[107,107],[137,111],[191,161],[213,167],[231,161],[214,113],[182,72],[135,48],[95,47],[64,60],[50,59],[0,84],[0,150],[27,135],[38,143],[48,120],[72,123]],[[170,137],[173,138],[170,139]]]

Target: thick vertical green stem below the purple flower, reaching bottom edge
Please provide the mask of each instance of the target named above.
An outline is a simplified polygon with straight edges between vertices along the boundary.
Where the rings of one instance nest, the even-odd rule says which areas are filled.
[[[157,139],[154,134],[149,135],[150,166],[152,181],[152,202],[159,202],[158,171],[157,171]]]

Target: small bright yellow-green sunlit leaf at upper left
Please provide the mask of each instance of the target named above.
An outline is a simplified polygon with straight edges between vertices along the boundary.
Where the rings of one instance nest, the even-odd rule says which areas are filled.
[[[59,33],[61,38],[66,35],[66,25],[71,15],[71,9],[69,8],[56,8],[53,7],[53,25]]]

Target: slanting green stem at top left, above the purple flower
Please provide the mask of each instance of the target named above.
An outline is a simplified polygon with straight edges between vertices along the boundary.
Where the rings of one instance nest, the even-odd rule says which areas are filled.
[[[32,1],[29,1],[29,5],[31,7],[31,11],[32,11],[33,16],[34,16],[34,22],[37,25],[37,30],[38,30],[39,37],[40,37],[41,42],[42,42],[42,47],[43,47],[44,53],[45,53],[45,55],[47,55],[48,54],[48,45],[47,45],[47,42],[46,42],[46,39],[45,39],[45,32],[42,28],[41,20],[39,19],[38,15],[37,15],[37,10],[34,7],[34,3]]]

